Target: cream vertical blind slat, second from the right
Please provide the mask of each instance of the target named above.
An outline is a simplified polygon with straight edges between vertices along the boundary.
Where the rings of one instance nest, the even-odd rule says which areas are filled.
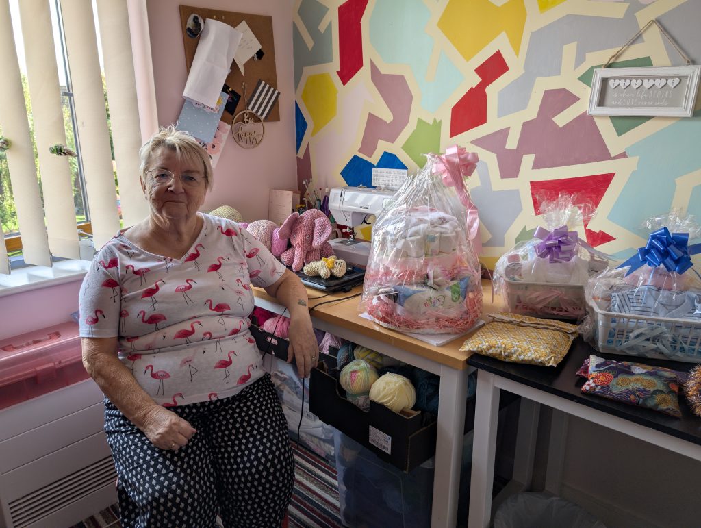
[[[62,0],[61,12],[93,243],[100,248],[119,230],[119,216],[93,4],[90,0]]]

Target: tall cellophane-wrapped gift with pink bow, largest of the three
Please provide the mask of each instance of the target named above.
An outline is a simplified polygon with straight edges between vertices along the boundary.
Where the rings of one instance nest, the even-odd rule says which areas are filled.
[[[450,147],[427,157],[377,216],[361,305],[394,330],[465,332],[482,311],[479,222],[464,182],[477,155]]]

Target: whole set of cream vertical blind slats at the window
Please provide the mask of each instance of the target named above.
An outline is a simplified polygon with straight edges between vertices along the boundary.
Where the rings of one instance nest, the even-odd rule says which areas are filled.
[[[27,112],[22,94],[9,0],[0,0],[0,46],[5,52],[0,76],[0,127],[11,140],[6,151],[13,186],[22,252],[27,264],[50,266],[51,257],[80,258],[79,235],[67,156],[50,154],[49,147],[66,143],[61,88],[50,1],[20,0],[20,20],[27,62],[27,83],[38,154],[35,166]],[[95,32],[100,27],[104,76],[110,108],[113,165],[109,126]],[[60,19],[65,34],[81,163],[90,210],[95,248],[119,229],[117,189],[124,225],[135,224],[148,213],[139,186],[138,149],[141,144],[134,62],[125,0],[61,0]],[[39,172],[37,172],[37,169]],[[43,207],[37,176],[41,175]],[[5,245],[0,249],[0,273],[8,273]]]

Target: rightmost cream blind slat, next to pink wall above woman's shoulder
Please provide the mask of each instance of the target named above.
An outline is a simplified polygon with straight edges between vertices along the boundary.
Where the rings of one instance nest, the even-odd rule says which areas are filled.
[[[127,5],[123,1],[97,0],[97,20],[122,219],[124,226],[132,226],[149,215],[149,204],[139,185],[138,152],[142,142]]]

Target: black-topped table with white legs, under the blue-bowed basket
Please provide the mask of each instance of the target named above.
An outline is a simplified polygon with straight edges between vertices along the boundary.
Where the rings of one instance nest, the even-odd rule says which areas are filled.
[[[468,358],[468,365],[478,370],[468,528],[487,527],[491,519],[497,414],[502,390],[527,398],[536,402],[536,405],[543,404],[557,409],[553,411],[548,447],[545,473],[547,491],[557,493],[559,489],[566,441],[566,417],[569,415],[593,421],[701,461],[701,419],[690,412],[683,395],[679,395],[682,418],[676,419],[651,409],[581,393],[580,388],[585,380],[577,377],[575,372],[591,353],[604,358],[661,365],[674,370],[688,371],[693,367],[693,363],[597,353],[581,339],[574,341],[569,353],[557,367],[506,363],[477,354]],[[522,400],[522,405],[527,400]],[[537,428],[537,418],[531,425]],[[517,455],[521,454],[517,452]]]

